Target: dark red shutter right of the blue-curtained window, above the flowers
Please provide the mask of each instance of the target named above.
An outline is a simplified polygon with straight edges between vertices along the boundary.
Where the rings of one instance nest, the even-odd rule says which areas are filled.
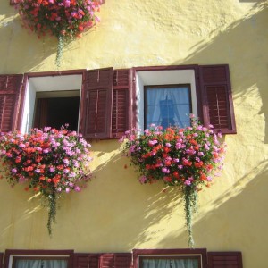
[[[223,134],[236,133],[228,65],[199,66],[204,124]]]

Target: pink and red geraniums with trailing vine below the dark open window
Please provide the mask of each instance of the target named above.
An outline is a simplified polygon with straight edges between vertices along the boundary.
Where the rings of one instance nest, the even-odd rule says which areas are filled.
[[[90,145],[71,130],[34,129],[30,134],[1,133],[0,157],[8,182],[25,183],[48,206],[47,229],[52,233],[57,199],[63,193],[80,192],[90,179]]]

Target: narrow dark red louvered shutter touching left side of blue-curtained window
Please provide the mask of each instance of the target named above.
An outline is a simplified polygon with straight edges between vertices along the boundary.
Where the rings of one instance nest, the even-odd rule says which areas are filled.
[[[131,77],[130,69],[113,71],[112,137],[121,138],[131,129]]]

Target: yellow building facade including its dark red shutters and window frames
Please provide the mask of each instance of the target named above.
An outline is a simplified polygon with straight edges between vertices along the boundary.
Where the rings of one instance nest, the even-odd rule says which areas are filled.
[[[8,0],[0,10],[1,131],[69,121],[94,158],[88,187],[61,200],[52,237],[38,197],[0,180],[3,267],[18,255],[121,268],[172,255],[197,259],[185,267],[266,268],[267,1],[107,0],[101,21],[64,48],[60,67],[55,38],[21,28]],[[178,191],[141,185],[118,142],[145,118],[154,121],[144,112],[146,88],[172,85],[187,85],[187,111],[213,123],[227,144],[221,176],[199,194],[195,249]]]

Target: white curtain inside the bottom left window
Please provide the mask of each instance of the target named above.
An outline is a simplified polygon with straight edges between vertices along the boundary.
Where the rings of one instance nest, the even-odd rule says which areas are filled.
[[[67,260],[22,260],[16,261],[15,268],[67,268]]]

